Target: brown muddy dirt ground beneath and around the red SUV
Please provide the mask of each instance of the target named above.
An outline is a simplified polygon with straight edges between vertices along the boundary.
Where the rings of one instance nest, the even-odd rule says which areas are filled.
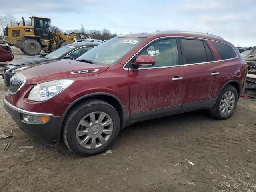
[[[82,158],[24,134],[4,110],[7,90],[0,79],[0,134],[13,132],[0,140],[1,192],[256,191],[256,101],[240,98],[228,120],[196,111],[133,124],[112,154]]]

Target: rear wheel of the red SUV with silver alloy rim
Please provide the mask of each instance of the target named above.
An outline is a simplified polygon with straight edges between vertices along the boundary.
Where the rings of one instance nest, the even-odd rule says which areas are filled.
[[[232,85],[225,86],[221,90],[216,104],[213,106],[212,110],[210,110],[210,115],[218,120],[230,118],[236,110],[237,101],[238,92],[236,88]],[[228,110],[226,110],[226,108],[228,108]]]

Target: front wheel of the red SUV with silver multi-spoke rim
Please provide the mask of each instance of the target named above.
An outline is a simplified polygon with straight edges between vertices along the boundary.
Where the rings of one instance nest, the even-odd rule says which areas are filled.
[[[92,118],[94,120],[91,121],[90,115],[93,116],[93,113],[95,116]],[[101,121],[100,114],[102,114],[101,117],[106,114]],[[111,120],[112,124],[107,125],[106,122],[111,123]],[[106,124],[106,126],[101,126],[99,122]],[[92,156],[110,148],[119,132],[120,118],[118,112],[110,104],[93,99],[80,102],[68,112],[64,121],[62,138],[74,154]],[[106,142],[104,143],[104,141]]]

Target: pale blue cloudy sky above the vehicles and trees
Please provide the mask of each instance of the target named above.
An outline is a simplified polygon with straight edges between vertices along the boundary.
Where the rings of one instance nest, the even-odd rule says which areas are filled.
[[[8,0],[1,2],[4,14],[48,17],[64,31],[81,24],[117,34],[209,31],[235,46],[256,45],[256,0]]]

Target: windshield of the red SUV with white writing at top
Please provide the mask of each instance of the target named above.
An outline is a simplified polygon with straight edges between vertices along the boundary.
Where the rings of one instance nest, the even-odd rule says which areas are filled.
[[[113,66],[144,40],[146,40],[146,38],[112,38],[86,52],[76,60],[87,60],[87,62],[90,61],[93,64]]]

